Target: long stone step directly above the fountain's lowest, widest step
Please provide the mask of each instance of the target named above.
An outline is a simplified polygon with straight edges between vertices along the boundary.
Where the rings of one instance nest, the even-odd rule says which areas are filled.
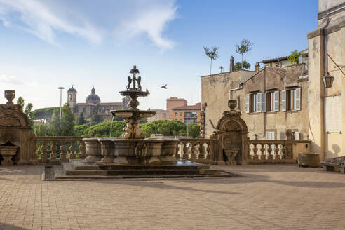
[[[126,170],[65,170],[65,175],[205,175],[220,174],[219,170],[194,169],[126,169]]]

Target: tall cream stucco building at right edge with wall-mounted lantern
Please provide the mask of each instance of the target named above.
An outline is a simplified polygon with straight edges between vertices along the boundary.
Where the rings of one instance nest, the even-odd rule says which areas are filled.
[[[345,155],[345,1],[319,0],[318,11],[318,28],[308,34],[309,136],[323,160]],[[321,80],[327,72],[331,88]]]

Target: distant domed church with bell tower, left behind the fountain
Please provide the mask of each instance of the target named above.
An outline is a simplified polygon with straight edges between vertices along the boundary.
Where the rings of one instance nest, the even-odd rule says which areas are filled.
[[[76,89],[73,86],[67,90],[67,102],[72,108],[74,116],[79,116],[79,114],[83,113],[83,116],[86,118],[97,113],[103,119],[109,119],[111,110],[128,109],[129,100],[126,97],[123,97],[123,102],[101,103],[100,97],[96,94],[94,87],[91,89],[91,94],[86,97],[85,103],[76,102],[76,93]]]

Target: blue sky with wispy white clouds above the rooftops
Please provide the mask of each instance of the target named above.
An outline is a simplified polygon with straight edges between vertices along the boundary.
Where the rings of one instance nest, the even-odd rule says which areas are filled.
[[[229,71],[231,55],[241,61],[235,44],[250,39],[244,60],[254,69],[308,48],[317,14],[317,0],[0,0],[0,91],[16,90],[34,109],[59,106],[59,86],[62,102],[72,85],[77,102],[93,86],[101,102],[121,102],[137,65],[150,92],[140,109],[165,109],[168,97],[195,104],[210,73],[203,46],[219,47],[216,74]]]

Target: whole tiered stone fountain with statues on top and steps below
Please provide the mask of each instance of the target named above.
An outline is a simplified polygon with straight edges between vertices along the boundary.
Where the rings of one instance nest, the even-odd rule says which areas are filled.
[[[138,97],[146,97],[149,91],[142,90],[142,77],[136,66],[130,70],[128,85],[119,93],[130,97],[130,108],[111,111],[123,117],[126,127],[121,138],[84,138],[85,160],[70,159],[62,163],[64,172],[55,179],[95,178],[142,178],[142,177],[205,177],[226,176],[208,165],[186,160],[176,160],[178,139],[144,138],[140,119],[154,116],[155,111],[137,109]]]

